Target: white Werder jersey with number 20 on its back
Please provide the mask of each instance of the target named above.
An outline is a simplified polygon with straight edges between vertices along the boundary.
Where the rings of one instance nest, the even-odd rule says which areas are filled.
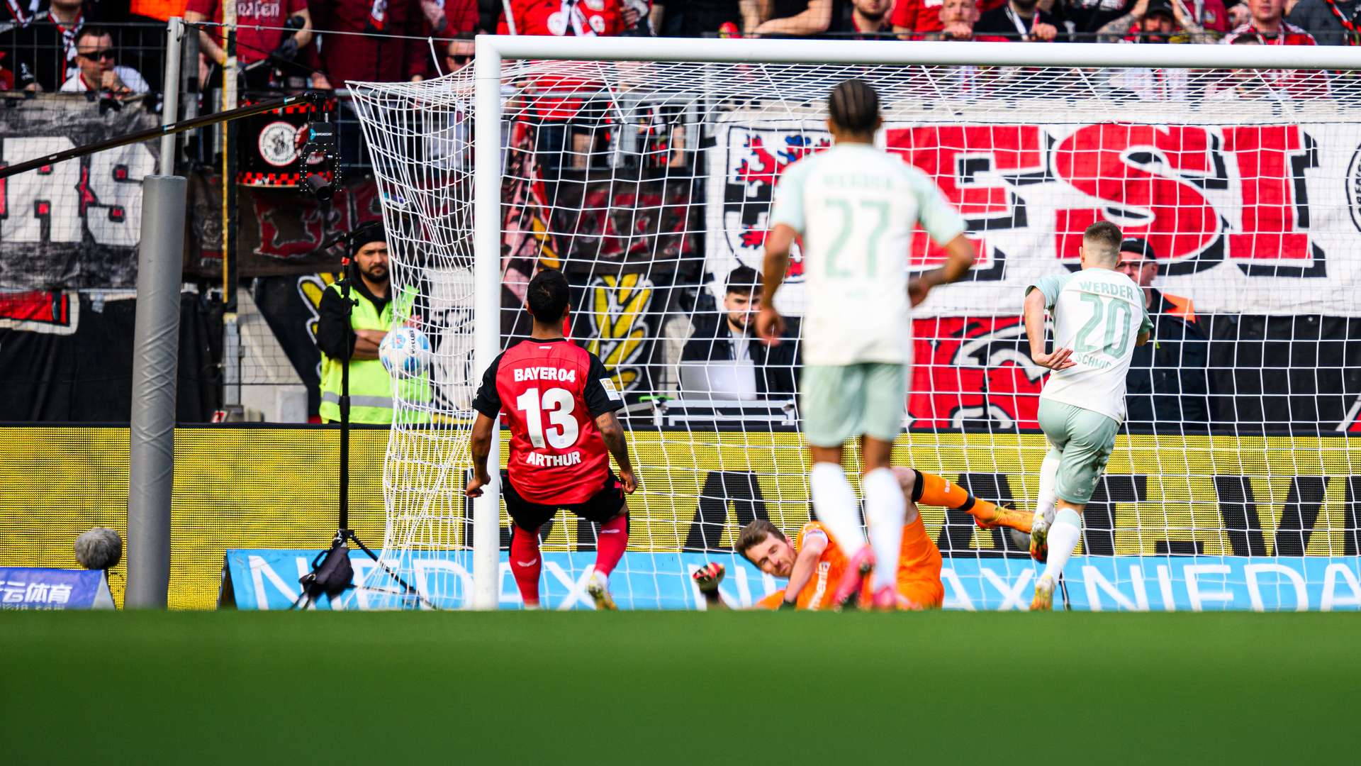
[[[1124,380],[1141,333],[1153,330],[1143,290],[1111,269],[1043,277],[1026,288],[1044,293],[1053,315],[1053,348],[1072,349],[1077,365],[1049,373],[1041,399],[1124,420]]]

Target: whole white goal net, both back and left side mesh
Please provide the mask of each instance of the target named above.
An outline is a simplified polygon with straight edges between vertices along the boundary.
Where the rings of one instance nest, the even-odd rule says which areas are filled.
[[[508,61],[498,320],[504,343],[525,337],[529,277],[562,269],[573,338],[626,394],[642,488],[611,579],[621,607],[695,607],[686,575],[710,559],[732,572],[735,604],[780,586],[731,547],[753,518],[793,533],[810,517],[798,330],[776,349],[747,345],[727,284],[739,266],[759,271],[772,189],[827,146],[825,98],[852,76],[885,104],[881,146],[935,179],[980,254],[969,281],[915,311],[894,463],[1033,507],[1044,379],[1021,300],[1077,267],[1082,230],[1109,219],[1155,254],[1143,269],[1157,330],[1068,567],[1072,605],[1361,602],[1350,74]],[[422,597],[374,570],[357,596],[373,604],[457,605],[470,582],[474,85],[468,67],[354,87],[395,285],[429,300],[415,322],[438,360],[431,398],[401,402],[385,468],[384,564]],[[911,270],[939,258],[921,232],[904,254]],[[793,318],[800,273],[796,258],[777,301]],[[947,607],[1023,604],[1034,570],[1017,541],[962,511],[923,515],[946,556]],[[593,525],[563,512],[542,532],[546,602],[584,605]]]

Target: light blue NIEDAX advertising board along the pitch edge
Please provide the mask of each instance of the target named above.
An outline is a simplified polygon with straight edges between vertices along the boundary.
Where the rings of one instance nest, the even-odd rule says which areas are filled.
[[[287,609],[301,593],[298,578],[317,551],[233,549],[227,552],[223,587],[241,609]],[[362,552],[350,553],[355,579],[373,567]],[[690,574],[710,560],[728,567],[724,600],[750,607],[783,587],[734,555],[625,553],[610,579],[623,609],[702,609]],[[587,577],[595,553],[543,553],[540,590],[546,608],[588,609]],[[412,585],[438,608],[460,608],[471,590],[467,551],[418,553]],[[945,559],[946,609],[1025,609],[1038,571],[1029,559]],[[382,579],[382,578],[380,578]],[[1067,600],[1079,611],[1357,611],[1361,609],[1361,556],[1074,556],[1066,570]],[[505,552],[501,553],[502,609],[523,604]],[[384,593],[352,590],[335,608],[392,607]],[[1057,601],[1057,598],[1056,598]],[[1055,604],[1057,607],[1057,602]],[[323,598],[316,608],[333,608]]]

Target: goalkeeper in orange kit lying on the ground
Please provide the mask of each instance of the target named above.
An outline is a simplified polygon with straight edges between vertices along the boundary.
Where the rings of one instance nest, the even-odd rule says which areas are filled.
[[[916,503],[945,506],[965,510],[984,529],[1009,526],[1019,532],[1030,532],[1034,514],[998,507],[987,500],[979,500],[964,488],[949,480],[913,470],[896,468],[893,473],[902,487],[908,502],[908,518],[902,527],[902,555],[898,560],[898,608],[935,609],[945,600],[945,586],[940,583],[940,549],[936,548]],[[822,527],[810,521],[791,541],[773,523],[757,519],[742,529],[738,538],[738,552],[747,557],[761,571],[772,577],[788,578],[784,590],[777,590],[762,598],[757,608],[762,609],[823,609],[830,604],[832,589],[840,582],[847,567],[845,553]],[[727,608],[719,597],[719,583],[723,581],[723,564],[710,563],[694,572],[709,608]],[[868,602],[870,581],[863,585],[860,600]],[[852,604],[842,604],[842,607]]]

